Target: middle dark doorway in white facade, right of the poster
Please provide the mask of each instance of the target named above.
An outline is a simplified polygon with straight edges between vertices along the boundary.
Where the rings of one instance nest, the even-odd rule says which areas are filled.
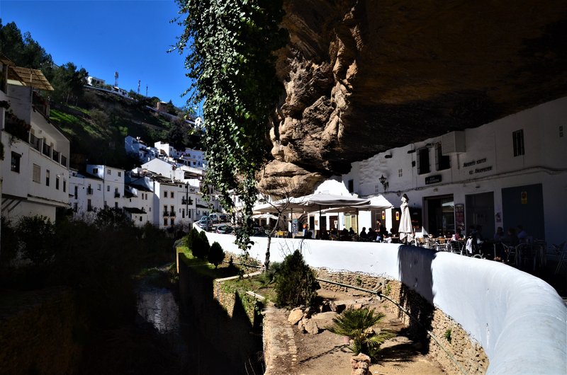
[[[494,237],[494,192],[483,192],[465,196],[466,228],[481,226],[483,238]]]

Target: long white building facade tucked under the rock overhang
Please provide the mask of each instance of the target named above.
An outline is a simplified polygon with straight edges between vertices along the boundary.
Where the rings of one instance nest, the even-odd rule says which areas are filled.
[[[506,231],[522,224],[534,238],[561,243],[567,208],[562,198],[567,192],[566,118],[567,98],[553,100],[353,163],[342,181],[361,197],[380,193],[395,207],[407,194],[419,214],[416,231],[451,233],[480,225],[483,236],[492,238],[498,226]],[[448,165],[439,165],[442,154]],[[374,228],[376,218],[359,215],[358,228]],[[386,212],[386,228],[395,231],[397,224],[394,210]]]

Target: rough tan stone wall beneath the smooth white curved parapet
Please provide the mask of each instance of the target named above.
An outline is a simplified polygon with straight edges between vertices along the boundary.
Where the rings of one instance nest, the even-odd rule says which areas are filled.
[[[364,275],[361,272],[332,272],[325,269],[316,269],[319,279],[349,284],[355,287],[375,291],[378,285],[383,284],[381,293],[396,301],[412,316],[408,316],[391,301],[387,302],[390,311],[398,313],[414,340],[420,340],[424,345],[424,352],[434,358],[449,373],[459,373],[459,367],[445,352],[447,350],[467,374],[485,374],[488,369],[488,357],[481,345],[471,340],[466,331],[447,316],[443,311],[434,308],[419,294],[404,284],[383,277]],[[321,287],[335,292],[347,292],[348,288],[339,285],[321,282]],[[352,289],[350,289],[352,290]],[[439,344],[427,334],[427,330],[437,337]]]

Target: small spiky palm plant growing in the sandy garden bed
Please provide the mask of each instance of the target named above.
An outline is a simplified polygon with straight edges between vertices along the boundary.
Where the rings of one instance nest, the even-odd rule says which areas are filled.
[[[352,339],[347,346],[354,354],[364,353],[371,359],[376,359],[380,345],[394,334],[381,330],[376,333],[372,326],[381,321],[385,315],[375,313],[374,308],[347,308],[339,316],[333,318],[333,324],[327,327],[332,333],[348,336]]]

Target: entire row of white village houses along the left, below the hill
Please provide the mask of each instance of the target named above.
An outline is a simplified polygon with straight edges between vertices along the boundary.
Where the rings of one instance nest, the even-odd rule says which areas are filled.
[[[75,219],[91,221],[97,210],[114,207],[137,226],[187,231],[201,215],[220,209],[212,195],[203,200],[201,180],[205,153],[178,151],[170,144],[147,146],[140,137],[125,137],[125,151],[140,167],[126,171],[115,166],[86,163],[70,168],[70,142],[49,120],[50,106],[40,91],[52,86],[41,71],[1,64],[2,217],[43,216],[55,221],[71,209]]]

